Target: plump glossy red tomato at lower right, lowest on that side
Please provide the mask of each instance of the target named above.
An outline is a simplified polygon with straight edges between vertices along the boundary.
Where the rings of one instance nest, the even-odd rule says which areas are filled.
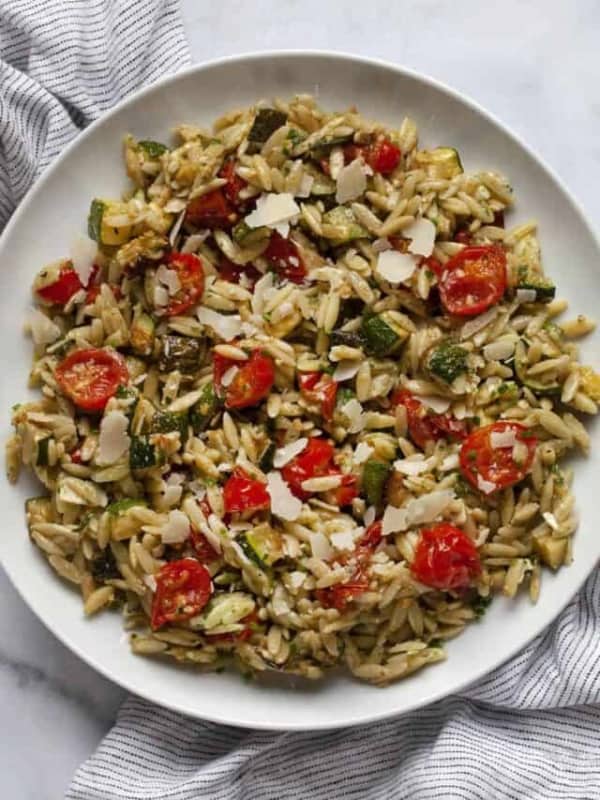
[[[466,533],[441,522],[421,531],[410,569],[420,583],[449,591],[470,586],[481,573],[481,564]]]

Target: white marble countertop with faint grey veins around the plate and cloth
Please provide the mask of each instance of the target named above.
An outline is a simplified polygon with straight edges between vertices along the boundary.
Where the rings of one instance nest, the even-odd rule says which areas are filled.
[[[263,49],[387,59],[463,91],[552,165],[600,216],[600,6],[594,0],[182,0],[195,62]],[[394,7],[395,5],[395,7]],[[0,573],[0,774],[6,800],[57,800],[123,692],[56,641]],[[18,632],[18,633],[16,633]]]

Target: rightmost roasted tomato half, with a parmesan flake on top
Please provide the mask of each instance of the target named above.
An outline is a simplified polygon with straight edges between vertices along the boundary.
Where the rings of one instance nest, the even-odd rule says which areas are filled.
[[[526,456],[521,463],[514,459],[513,445],[507,447],[494,447],[492,434],[501,434],[513,431],[515,441],[522,442],[526,448]],[[494,422],[483,428],[473,431],[460,449],[460,468],[463,475],[473,484],[476,489],[479,486],[479,478],[491,484],[493,488],[482,489],[485,494],[523,480],[531,469],[537,439],[529,436],[528,429],[519,422]]]

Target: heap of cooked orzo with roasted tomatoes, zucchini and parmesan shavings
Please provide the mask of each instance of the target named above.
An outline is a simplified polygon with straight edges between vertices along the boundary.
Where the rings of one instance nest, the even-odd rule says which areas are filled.
[[[126,138],[130,188],[33,285],[8,471],[85,612],[136,653],[386,684],[535,601],[600,377],[505,178],[309,96],[174,136]]]

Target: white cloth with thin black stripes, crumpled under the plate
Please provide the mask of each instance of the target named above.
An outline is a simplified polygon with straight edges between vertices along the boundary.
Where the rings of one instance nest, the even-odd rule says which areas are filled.
[[[0,226],[101,112],[188,60],[176,0],[0,0]],[[433,667],[435,669],[435,667]],[[265,733],[128,700],[67,800],[600,798],[600,575],[461,696],[330,733]]]

